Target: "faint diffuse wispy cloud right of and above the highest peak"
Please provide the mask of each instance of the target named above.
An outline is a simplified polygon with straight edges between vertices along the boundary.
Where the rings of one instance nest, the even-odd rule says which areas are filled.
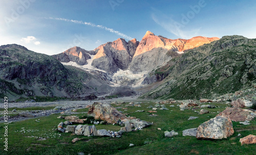
[[[163,27],[166,31],[175,34],[176,36],[184,39],[197,36],[201,28],[191,29],[188,25],[182,24],[180,21],[174,20],[171,16],[167,16],[164,13],[153,9],[152,19],[156,24]]]

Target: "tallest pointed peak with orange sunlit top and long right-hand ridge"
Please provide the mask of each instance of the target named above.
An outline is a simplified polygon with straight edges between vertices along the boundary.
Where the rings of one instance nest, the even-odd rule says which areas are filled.
[[[154,33],[147,31],[136,49],[130,70],[133,73],[151,71],[172,59],[168,52],[181,52],[193,49],[218,39],[217,37],[207,38],[199,36],[188,40],[173,40],[163,36],[156,36]]]

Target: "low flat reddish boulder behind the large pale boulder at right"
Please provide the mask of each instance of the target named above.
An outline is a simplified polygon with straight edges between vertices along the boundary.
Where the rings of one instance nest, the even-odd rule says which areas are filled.
[[[239,107],[227,107],[217,116],[227,117],[234,122],[251,121],[253,119],[253,116],[247,112],[246,109],[241,109]]]

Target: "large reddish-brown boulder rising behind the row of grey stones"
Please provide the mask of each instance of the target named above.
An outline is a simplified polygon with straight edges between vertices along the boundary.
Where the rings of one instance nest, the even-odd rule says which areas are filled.
[[[118,120],[128,119],[116,108],[107,103],[95,102],[89,109],[88,115],[95,119],[101,119],[108,123],[117,123]]]

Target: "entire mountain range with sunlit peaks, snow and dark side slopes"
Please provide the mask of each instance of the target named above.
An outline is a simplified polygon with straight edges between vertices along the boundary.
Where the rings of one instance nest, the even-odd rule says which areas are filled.
[[[255,81],[256,40],[243,36],[168,39],[147,31],[95,50],[73,47],[48,56],[0,47],[0,96],[212,98]]]

